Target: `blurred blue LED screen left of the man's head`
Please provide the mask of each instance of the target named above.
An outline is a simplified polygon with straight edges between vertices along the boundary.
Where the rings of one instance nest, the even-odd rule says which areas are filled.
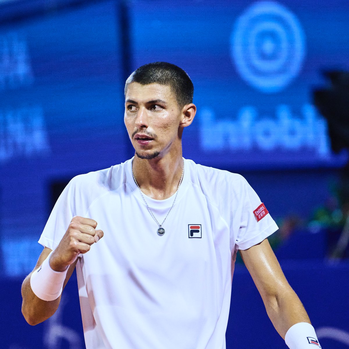
[[[38,257],[51,184],[125,159],[120,37],[112,1],[0,26],[0,233],[23,263],[13,274]]]

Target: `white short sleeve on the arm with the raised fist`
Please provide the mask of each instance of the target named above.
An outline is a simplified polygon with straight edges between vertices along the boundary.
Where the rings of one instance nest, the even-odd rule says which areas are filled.
[[[54,250],[68,229],[72,218],[76,216],[74,178],[65,187],[50,214],[39,244]]]

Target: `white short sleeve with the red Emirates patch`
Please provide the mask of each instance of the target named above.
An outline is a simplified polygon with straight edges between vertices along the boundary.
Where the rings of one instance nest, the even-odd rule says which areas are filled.
[[[235,241],[235,249],[237,250],[246,250],[262,242],[279,229],[269,213],[258,220],[258,215],[256,217],[254,212],[260,207],[262,202],[244,178],[242,185],[242,198],[239,200],[240,207],[236,211],[235,216],[235,219],[240,221]]]

